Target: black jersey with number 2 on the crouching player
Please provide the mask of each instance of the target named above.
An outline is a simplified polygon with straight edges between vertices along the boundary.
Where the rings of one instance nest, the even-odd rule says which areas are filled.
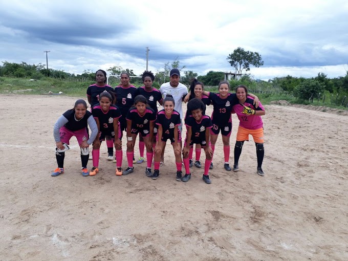
[[[192,129],[191,143],[201,144],[201,141],[205,141],[206,129],[211,128],[213,124],[210,117],[203,114],[200,122],[197,122],[192,115],[188,115],[185,119],[185,125]]]

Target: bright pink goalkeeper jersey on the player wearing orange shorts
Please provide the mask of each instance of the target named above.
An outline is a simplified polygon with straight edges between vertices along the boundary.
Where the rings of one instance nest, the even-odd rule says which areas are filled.
[[[255,108],[253,105],[254,99],[251,97],[247,97],[247,100],[244,102],[244,105],[252,108],[256,111],[265,111],[264,106],[261,104],[261,102],[258,102],[258,107]],[[240,126],[246,129],[259,129],[264,126],[264,123],[262,121],[261,116],[257,115],[246,115],[243,112],[243,105],[238,103],[233,106],[233,111],[237,114],[238,119],[240,120]]]

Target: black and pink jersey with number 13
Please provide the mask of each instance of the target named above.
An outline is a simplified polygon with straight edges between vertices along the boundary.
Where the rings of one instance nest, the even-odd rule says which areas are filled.
[[[235,93],[229,93],[226,98],[222,99],[219,93],[210,92],[209,98],[214,106],[211,120],[215,123],[232,122],[231,112],[233,105],[239,103]]]

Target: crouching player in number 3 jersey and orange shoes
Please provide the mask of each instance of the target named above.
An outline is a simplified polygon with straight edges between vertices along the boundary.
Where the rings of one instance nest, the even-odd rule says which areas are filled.
[[[92,115],[98,126],[98,135],[93,142],[93,168],[91,169],[90,176],[94,176],[99,172],[99,148],[100,144],[105,137],[110,137],[115,144],[117,168],[116,175],[122,175],[121,164],[122,164],[122,148],[120,138],[120,130],[118,119],[121,117],[120,110],[116,105],[112,104],[113,97],[108,92],[103,92],[99,95],[99,103],[93,106]]]

